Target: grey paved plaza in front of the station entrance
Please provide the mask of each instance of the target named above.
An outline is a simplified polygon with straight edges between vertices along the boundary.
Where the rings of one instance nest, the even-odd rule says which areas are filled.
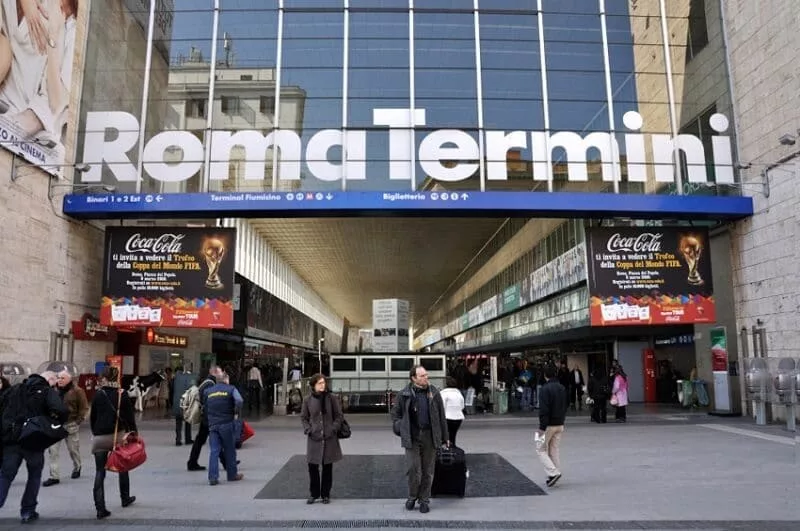
[[[596,425],[586,416],[572,417],[562,445],[564,477],[548,489],[532,451],[534,418],[469,417],[458,440],[469,455],[483,456],[476,458],[470,470],[469,481],[476,485],[464,499],[433,499],[431,512],[422,515],[403,508],[405,478],[392,477],[398,472],[391,463],[401,449],[388,416],[352,414],[348,420],[353,437],[342,443],[348,458],[334,467],[331,503],[308,506],[304,501],[307,476],[297,457],[305,451],[299,417],[254,420],[256,436],[239,452],[245,479],[232,484],[223,480],[214,487],[208,485],[205,472],[186,470],[189,449],[174,445],[172,420],[144,419],[140,430],[148,444],[148,461],[131,474],[131,493],[137,501],[121,509],[116,477],[109,474],[106,498],[112,516],[102,522],[94,518],[94,463],[88,453],[90,434],[84,429],[82,477],[62,477],[60,485],[43,488],[38,509],[42,518],[34,525],[52,529],[800,529],[798,445],[780,426],[759,428],[749,419],[720,419],[681,410],[634,410],[627,424]],[[207,450],[202,454],[206,461]],[[70,470],[66,452],[61,452],[61,459],[63,474]],[[276,479],[285,489],[276,488]],[[0,514],[2,529],[19,525],[24,480],[23,467]],[[342,496],[337,497],[337,492]],[[397,497],[357,497],[387,492]]]

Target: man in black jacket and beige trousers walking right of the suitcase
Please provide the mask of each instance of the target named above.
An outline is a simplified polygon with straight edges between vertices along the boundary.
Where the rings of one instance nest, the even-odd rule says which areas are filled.
[[[564,433],[567,415],[567,390],[558,378],[556,368],[548,365],[544,370],[547,383],[539,397],[539,429],[535,434],[536,453],[547,473],[547,486],[552,487],[561,478],[558,450]]]

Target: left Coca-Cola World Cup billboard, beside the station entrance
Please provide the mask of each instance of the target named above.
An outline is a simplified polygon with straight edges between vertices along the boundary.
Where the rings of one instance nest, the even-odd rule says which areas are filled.
[[[108,227],[100,322],[232,328],[235,229]]]

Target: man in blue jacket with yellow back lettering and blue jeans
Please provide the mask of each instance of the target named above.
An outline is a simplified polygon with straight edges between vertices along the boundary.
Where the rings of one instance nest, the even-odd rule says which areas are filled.
[[[203,391],[205,415],[208,419],[208,483],[219,483],[219,454],[225,455],[228,481],[241,481],[243,474],[236,468],[236,436],[234,419],[244,400],[239,391],[228,383],[228,375],[217,377],[217,383]]]

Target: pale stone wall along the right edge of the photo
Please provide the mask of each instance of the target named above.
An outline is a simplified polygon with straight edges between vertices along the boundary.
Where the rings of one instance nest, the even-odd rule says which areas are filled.
[[[794,158],[769,172],[770,193],[762,192],[768,164],[800,150],[783,146],[781,135],[800,128],[797,28],[800,4],[793,0],[724,4],[728,54],[739,129],[739,160],[755,215],[733,227],[733,283],[738,329],[760,323],[770,356],[800,358],[800,164]]]

